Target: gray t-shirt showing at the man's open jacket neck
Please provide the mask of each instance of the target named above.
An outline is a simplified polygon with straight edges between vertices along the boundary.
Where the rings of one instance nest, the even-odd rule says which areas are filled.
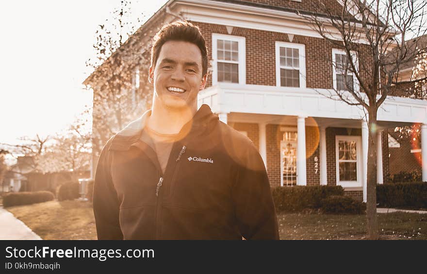
[[[141,140],[146,142],[156,152],[163,173],[177,137],[178,134],[161,134],[153,131],[148,126],[142,131]]]

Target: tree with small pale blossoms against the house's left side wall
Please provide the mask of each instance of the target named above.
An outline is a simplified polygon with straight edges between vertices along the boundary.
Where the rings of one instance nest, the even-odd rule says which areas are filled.
[[[85,80],[93,97],[93,150],[99,155],[109,137],[147,109],[151,100],[151,87],[145,85],[140,68],[147,69],[150,51],[132,34],[141,26],[138,17],[132,20],[131,2],[123,0],[112,17],[99,25],[93,47],[96,58],[86,66],[94,73]],[[135,36],[146,36],[144,33]]]

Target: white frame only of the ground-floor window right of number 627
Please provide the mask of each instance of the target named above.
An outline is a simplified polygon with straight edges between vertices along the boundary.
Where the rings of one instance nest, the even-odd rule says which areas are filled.
[[[356,141],[356,172],[357,172],[357,181],[340,181],[340,163],[339,163],[339,141]],[[362,146],[361,146],[361,136],[335,136],[335,163],[336,163],[336,178],[337,186],[342,186],[343,188],[358,188],[362,187]]]

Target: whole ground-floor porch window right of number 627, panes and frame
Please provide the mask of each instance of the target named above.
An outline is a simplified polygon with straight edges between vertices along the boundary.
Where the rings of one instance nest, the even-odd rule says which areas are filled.
[[[361,137],[336,137],[337,185],[361,187]]]

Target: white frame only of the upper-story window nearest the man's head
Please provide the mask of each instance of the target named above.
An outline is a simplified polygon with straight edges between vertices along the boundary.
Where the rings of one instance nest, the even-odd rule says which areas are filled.
[[[243,36],[227,35],[227,34],[212,34],[212,86],[218,84],[218,52],[217,40],[230,40],[238,43],[239,49],[239,83],[228,84],[246,84],[246,38]],[[230,62],[232,63],[232,62]]]

